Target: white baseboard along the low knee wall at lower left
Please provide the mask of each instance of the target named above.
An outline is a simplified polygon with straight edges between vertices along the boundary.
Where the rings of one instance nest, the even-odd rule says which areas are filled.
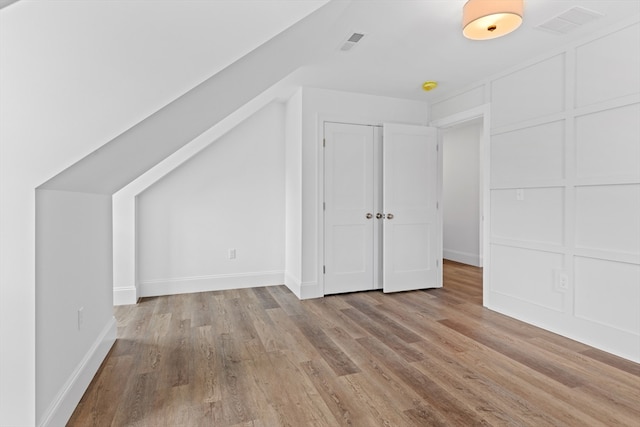
[[[60,389],[51,405],[49,405],[38,426],[57,427],[67,424],[82,395],[107,357],[113,343],[115,343],[116,334],[116,319],[112,317],[62,389]]]

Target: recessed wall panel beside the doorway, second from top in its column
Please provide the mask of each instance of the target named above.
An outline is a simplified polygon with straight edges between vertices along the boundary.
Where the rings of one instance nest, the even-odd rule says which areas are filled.
[[[564,178],[564,121],[494,135],[491,185]]]

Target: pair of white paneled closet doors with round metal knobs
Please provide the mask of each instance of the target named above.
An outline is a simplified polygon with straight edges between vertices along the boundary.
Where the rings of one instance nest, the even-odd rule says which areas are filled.
[[[442,286],[435,128],[324,125],[324,293]]]

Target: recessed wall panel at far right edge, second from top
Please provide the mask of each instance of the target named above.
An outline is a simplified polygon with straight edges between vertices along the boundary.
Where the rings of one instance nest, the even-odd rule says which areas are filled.
[[[576,118],[576,141],[579,178],[640,180],[640,104]]]

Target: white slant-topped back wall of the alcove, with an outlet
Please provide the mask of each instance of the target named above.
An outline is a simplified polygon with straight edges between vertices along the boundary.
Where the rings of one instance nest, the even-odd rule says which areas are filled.
[[[140,296],[284,282],[284,117],[269,104],[138,196]]]

